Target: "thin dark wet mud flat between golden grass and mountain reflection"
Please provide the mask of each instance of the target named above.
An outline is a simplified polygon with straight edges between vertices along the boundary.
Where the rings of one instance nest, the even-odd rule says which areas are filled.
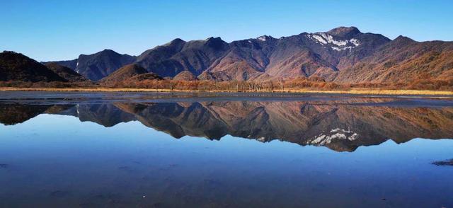
[[[172,103],[204,101],[331,101],[355,105],[453,106],[453,96],[376,96],[327,93],[47,92],[0,91],[0,103]],[[364,101],[365,100],[365,101]]]

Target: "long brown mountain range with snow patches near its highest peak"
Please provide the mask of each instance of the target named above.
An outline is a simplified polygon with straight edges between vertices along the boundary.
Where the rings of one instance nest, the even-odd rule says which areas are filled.
[[[1,65],[1,59],[4,56],[0,57],[0,73],[8,73],[8,66]],[[452,79],[453,42],[417,42],[403,36],[390,40],[384,35],[362,33],[355,27],[339,27],[320,33],[280,38],[263,35],[233,42],[220,37],[191,41],[177,38],[138,56],[103,50],[52,63],[91,81],[100,81],[121,67],[136,64],[166,79],[267,81],[320,77],[338,83],[408,82]]]

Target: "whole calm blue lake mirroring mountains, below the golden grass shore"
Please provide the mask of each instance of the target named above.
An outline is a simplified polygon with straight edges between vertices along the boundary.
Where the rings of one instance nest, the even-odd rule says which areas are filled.
[[[0,93],[0,207],[453,207],[453,99]]]

